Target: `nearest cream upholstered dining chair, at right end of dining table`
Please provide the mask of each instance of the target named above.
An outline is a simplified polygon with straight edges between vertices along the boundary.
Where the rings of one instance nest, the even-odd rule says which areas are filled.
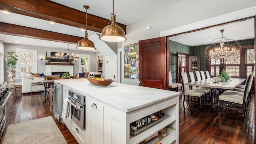
[[[219,108],[218,112],[220,112],[221,108],[230,108],[232,110],[238,110],[242,111],[244,113],[244,117],[246,118],[246,113],[247,113],[247,106],[246,106],[246,101],[248,98],[248,94],[250,91],[250,83],[253,80],[251,78],[253,74],[250,74],[247,79],[246,79],[246,84],[245,84],[245,89],[244,93],[241,96],[240,94],[230,94],[228,92],[224,92],[220,94],[219,96]],[[238,108],[236,108],[238,107]],[[242,109],[240,109],[242,108]]]

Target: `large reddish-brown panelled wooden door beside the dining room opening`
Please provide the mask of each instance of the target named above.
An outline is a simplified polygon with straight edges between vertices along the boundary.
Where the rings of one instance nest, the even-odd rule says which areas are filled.
[[[139,41],[139,86],[167,89],[165,40],[160,37]]]

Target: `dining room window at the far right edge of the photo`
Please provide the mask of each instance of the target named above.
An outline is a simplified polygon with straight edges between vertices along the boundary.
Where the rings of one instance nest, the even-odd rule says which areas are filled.
[[[254,48],[246,49],[246,76],[254,71],[255,65],[255,56],[254,56]]]

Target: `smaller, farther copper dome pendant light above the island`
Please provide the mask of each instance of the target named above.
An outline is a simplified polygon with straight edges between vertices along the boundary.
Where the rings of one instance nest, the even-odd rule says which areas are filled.
[[[88,33],[87,33],[87,9],[89,6],[84,5],[84,8],[86,9],[86,18],[85,18],[85,37],[82,40],[79,40],[77,43],[76,48],[80,50],[95,50],[94,43],[88,39]]]

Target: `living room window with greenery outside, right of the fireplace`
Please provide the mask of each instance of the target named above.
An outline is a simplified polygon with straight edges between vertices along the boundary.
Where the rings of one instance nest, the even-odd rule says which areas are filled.
[[[86,54],[80,54],[79,62],[79,72],[90,72],[90,60],[91,56]]]

